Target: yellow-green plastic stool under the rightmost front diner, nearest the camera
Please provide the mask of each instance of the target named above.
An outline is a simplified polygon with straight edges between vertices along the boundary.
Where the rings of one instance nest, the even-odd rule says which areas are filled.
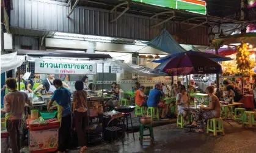
[[[213,135],[217,135],[218,132],[222,132],[225,135],[224,124],[222,118],[212,118],[207,121],[207,133],[213,132]]]

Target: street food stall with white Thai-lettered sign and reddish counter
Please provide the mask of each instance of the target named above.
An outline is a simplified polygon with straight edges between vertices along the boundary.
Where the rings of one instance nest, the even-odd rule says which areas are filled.
[[[95,75],[97,74],[97,63],[89,61],[92,59],[111,59],[107,54],[86,54],[86,53],[70,53],[70,52],[49,52],[49,51],[26,51],[18,50],[18,55],[27,55],[27,60],[35,61],[35,73],[39,74],[87,74]],[[69,60],[64,60],[64,58],[69,58]],[[76,59],[74,59],[76,58]],[[77,59],[79,58],[79,59]],[[104,65],[103,62],[100,64]],[[103,78],[104,79],[104,78]],[[102,94],[89,94],[87,100],[89,104],[89,116],[92,118],[100,118],[100,114],[103,114],[103,90],[104,84],[102,84]],[[72,92],[73,90],[71,90]],[[99,97],[98,97],[99,96]],[[36,99],[36,100],[35,100]],[[31,116],[27,119],[27,129],[29,129],[29,150],[30,152],[49,152],[56,151],[58,146],[58,130],[59,122],[55,118],[56,113],[51,116],[53,112],[47,112],[46,105],[51,99],[51,94],[47,92],[45,95],[41,93],[34,94],[33,104],[35,108],[41,107],[40,117],[34,118]],[[109,99],[109,98],[104,98]],[[71,104],[73,99],[71,98]],[[71,105],[72,106],[72,105]],[[36,111],[35,111],[36,112]],[[38,113],[38,110],[37,110]],[[38,116],[38,115],[35,115]],[[100,126],[102,119],[97,119],[96,127]],[[89,126],[89,132],[93,133],[93,138],[100,137],[101,130],[95,134],[92,132],[92,124]],[[45,135],[45,137],[42,137]],[[91,134],[89,134],[89,141]]]

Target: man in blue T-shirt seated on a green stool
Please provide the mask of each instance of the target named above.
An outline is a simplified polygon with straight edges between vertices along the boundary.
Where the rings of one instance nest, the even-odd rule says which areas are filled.
[[[161,90],[161,85],[156,84],[155,88],[151,90],[149,93],[147,105],[148,107],[162,108],[163,111],[162,111],[161,119],[166,120],[168,119],[165,117],[167,105],[164,104],[163,100],[161,99],[161,97],[164,97],[164,94],[160,90]]]

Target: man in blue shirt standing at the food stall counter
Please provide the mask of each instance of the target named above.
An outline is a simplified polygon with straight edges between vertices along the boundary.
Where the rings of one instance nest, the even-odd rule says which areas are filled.
[[[60,79],[53,80],[53,85],[56,87],[56,90],[51,97],[51,101],[48,102],[47,109],[50,111],[53,102],[56,101],[58,109],[57,118],[60,122],[58,152],[65,152],[68,149],[68,143],[70,141],[71,93],[67,88],[63,87],[62,80]]]

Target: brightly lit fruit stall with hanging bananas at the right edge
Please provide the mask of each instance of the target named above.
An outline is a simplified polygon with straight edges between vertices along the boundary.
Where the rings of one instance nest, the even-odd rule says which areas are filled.
[[[221,81],[228,79],[232,84],[241,88],[244,96],[243,107],[246,109],[254,109],[251,76],[256,73],[255,42],[256,33],[236,34],[213,40],[215,46],[239,44],[236,46],[236,53],[230,55],[234,60],[222,62],[224,69]],[[223,91],[224,87],[220,89]]]

